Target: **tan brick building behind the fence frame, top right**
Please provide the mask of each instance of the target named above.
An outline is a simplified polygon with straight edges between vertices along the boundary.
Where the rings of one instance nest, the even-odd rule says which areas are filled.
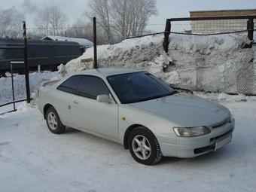
[[[256,15],[256,9],[190,11],[190,17],[224,17]],[[254,24],[254,26],[256,26]],[[236,32],[247,29],[247,20],[197,20],[191,21],[192,33]]]

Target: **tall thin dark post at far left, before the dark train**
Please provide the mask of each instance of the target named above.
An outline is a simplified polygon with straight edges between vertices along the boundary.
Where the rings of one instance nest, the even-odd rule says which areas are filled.
[[[26,81],[26,99],[29,103],[30,98],[30,87],[29,87],[29,66],[28,66],[28,57],[27,57],[27,47],[26,47],[26,22],[23,21],[23,39],[24,39],[24,74]]]

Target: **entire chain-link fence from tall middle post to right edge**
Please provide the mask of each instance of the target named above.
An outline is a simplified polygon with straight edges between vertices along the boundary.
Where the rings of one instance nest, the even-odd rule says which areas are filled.
[[[143,69],[175,88],[256,95],[254,18],[167,19],[164,32],[98,45],[94,61]]]

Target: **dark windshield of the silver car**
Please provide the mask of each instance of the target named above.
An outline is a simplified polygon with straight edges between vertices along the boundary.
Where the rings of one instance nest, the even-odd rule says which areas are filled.
[[[176,92],[147,72],[112,75],[107,79],[123,104],[157,99]]]

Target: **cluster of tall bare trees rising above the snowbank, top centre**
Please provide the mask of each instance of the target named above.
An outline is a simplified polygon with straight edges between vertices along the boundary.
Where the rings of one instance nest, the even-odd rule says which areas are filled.
[[[109,43],[142,35],[149,17],[157,14],[156,0],[90,0],[89,7]]]

